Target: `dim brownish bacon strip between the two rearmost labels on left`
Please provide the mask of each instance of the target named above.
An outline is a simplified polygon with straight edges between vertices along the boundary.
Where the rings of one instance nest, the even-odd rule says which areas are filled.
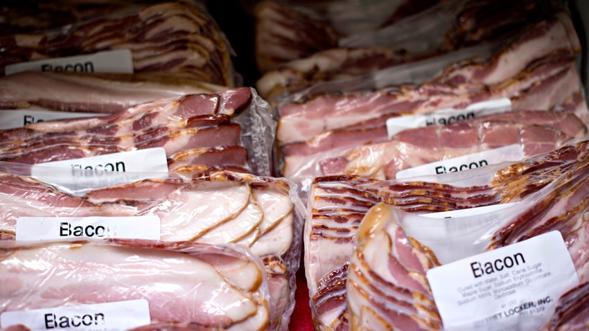
[[[61,111],[116,113],[157,99],[220,92],[223,87],[160,75],[58,72],[16,73],[0,78],[0,108],[31,105]]]

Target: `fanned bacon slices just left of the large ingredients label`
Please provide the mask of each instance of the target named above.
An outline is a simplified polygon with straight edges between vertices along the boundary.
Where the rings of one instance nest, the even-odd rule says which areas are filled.
[[[441,318],[425,278],[439,262],[389,220],[391,213],[392,206],[374,206],[358,231],[346,282],[350,330],[364,323],[373,330],[439,330]],[[403,296],[391,295],[398,292]]]

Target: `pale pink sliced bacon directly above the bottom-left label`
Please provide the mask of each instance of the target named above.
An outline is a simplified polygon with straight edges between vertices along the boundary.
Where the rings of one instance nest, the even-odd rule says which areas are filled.
[[[265,297],[261,262],[229,247],[133,240],[5,241],[0,242],[0,256],[0,279],[9,285],[0,292],[2,312],[142,298],[149,303],[154,324],[230,328],[252,319],[255,322],[247,322],[252,323],[252,330],[262,330],[272,309]],[[54,259],[51,263],[47,263],[48,256]],[[134,263],[129,263],[130,258]],[[25,263],[15,265],[15,261]],[[65,281],[58,277],[60,272],[77,276]],[[41,283],[44,285],[38,286]],[[89,291],[102,295],[88,295]],[[182,309],[162,302],[175,302]],[[259,319],[258,314],[266,318]]]

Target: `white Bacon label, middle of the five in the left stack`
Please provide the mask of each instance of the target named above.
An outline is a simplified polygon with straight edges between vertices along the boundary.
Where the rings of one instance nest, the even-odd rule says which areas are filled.
[[[51,168],[67,168],[69,171],[55,172]],[[31,176],[69,190],[91,190],[147,178],[166,178],[167,172],[168,159],[163,147],[39,163],[31,167]]]

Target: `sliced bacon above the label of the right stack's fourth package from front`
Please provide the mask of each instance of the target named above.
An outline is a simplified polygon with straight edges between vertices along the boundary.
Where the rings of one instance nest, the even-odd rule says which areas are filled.
[[[461,109],[471,103],[495,98],[512,98],[513,109],[551,109],[563,97],[578,91],[581,84],[574,69],[572,52],[546,55],[540,64],[531,64],[519,75],[498,84],[473,84],[461,88],[439,88],[436,83],[417,87],[391,87],[368,93],[325,95],[301,104],[279,107],[281,119],[277,136],[281,143],[306,141],[321,132],[341,129],[363,121],[423,114],[443,108]],[[538,81],[543,84],[538,85]],[[546,93],[550,90],[551,93]],[[553,92],[554,91],[554,92]],[[312,120],[312,122],[310,122]]]

